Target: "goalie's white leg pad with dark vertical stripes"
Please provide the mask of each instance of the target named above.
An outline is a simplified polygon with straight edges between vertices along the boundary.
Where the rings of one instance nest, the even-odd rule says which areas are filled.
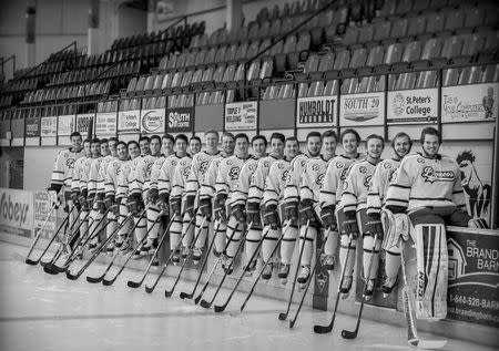
[[[416,225],[414,236],[417,259],[416,317],[428,320],[446,318],[448,279],[446,227],[442,224]]]

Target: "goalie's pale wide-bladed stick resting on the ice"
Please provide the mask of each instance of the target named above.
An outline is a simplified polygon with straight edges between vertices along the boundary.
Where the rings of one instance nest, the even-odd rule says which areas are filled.
[[[407,321],[407,342],[409,343],[409,347],[417,349],[441,349],[447,344],[447,340],[421,340],[418,338],[416,321],[414,320],[413,314],[411,301],[414,299],[414,296],[407,281],[404,248],[405,244],[403,244],[403,247],[400,249],[400,266],[403,269],[403,277],[404,277],[403,301],[404,301],[404,314]]]

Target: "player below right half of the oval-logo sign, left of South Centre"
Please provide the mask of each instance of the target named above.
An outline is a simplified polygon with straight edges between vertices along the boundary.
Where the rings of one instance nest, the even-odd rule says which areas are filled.
[[[161,151],[161,137],[159,135],[152,135],[149,143],[151,154],[140,158],[136,164],[135,172],[133,174],[132,184],[130,185],[129,207],[130,211],[135,216],[135,237],[138,242],[143,242],[141,250],[134,252],[134,258],[138,259],[146,252],[144,250],[144,237],[147,230],[147,220],[141,217],[142,210],[145,208],[151,211],[149,207],[149,185],[151,179],[151,171],[154,162],[160,157]],[[157,224],[156,224],[157,225]]]

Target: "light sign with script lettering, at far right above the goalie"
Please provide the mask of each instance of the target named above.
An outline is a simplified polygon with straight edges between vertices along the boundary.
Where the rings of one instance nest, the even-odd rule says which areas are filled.
[[[499,83],[444,86],[441,122],[493,122],[498,114]]]

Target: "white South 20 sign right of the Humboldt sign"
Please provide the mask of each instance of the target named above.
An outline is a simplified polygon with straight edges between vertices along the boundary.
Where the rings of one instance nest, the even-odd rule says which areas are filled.
[[[339,101],[339,125],[383,125],[385,93],[342,95]]]

